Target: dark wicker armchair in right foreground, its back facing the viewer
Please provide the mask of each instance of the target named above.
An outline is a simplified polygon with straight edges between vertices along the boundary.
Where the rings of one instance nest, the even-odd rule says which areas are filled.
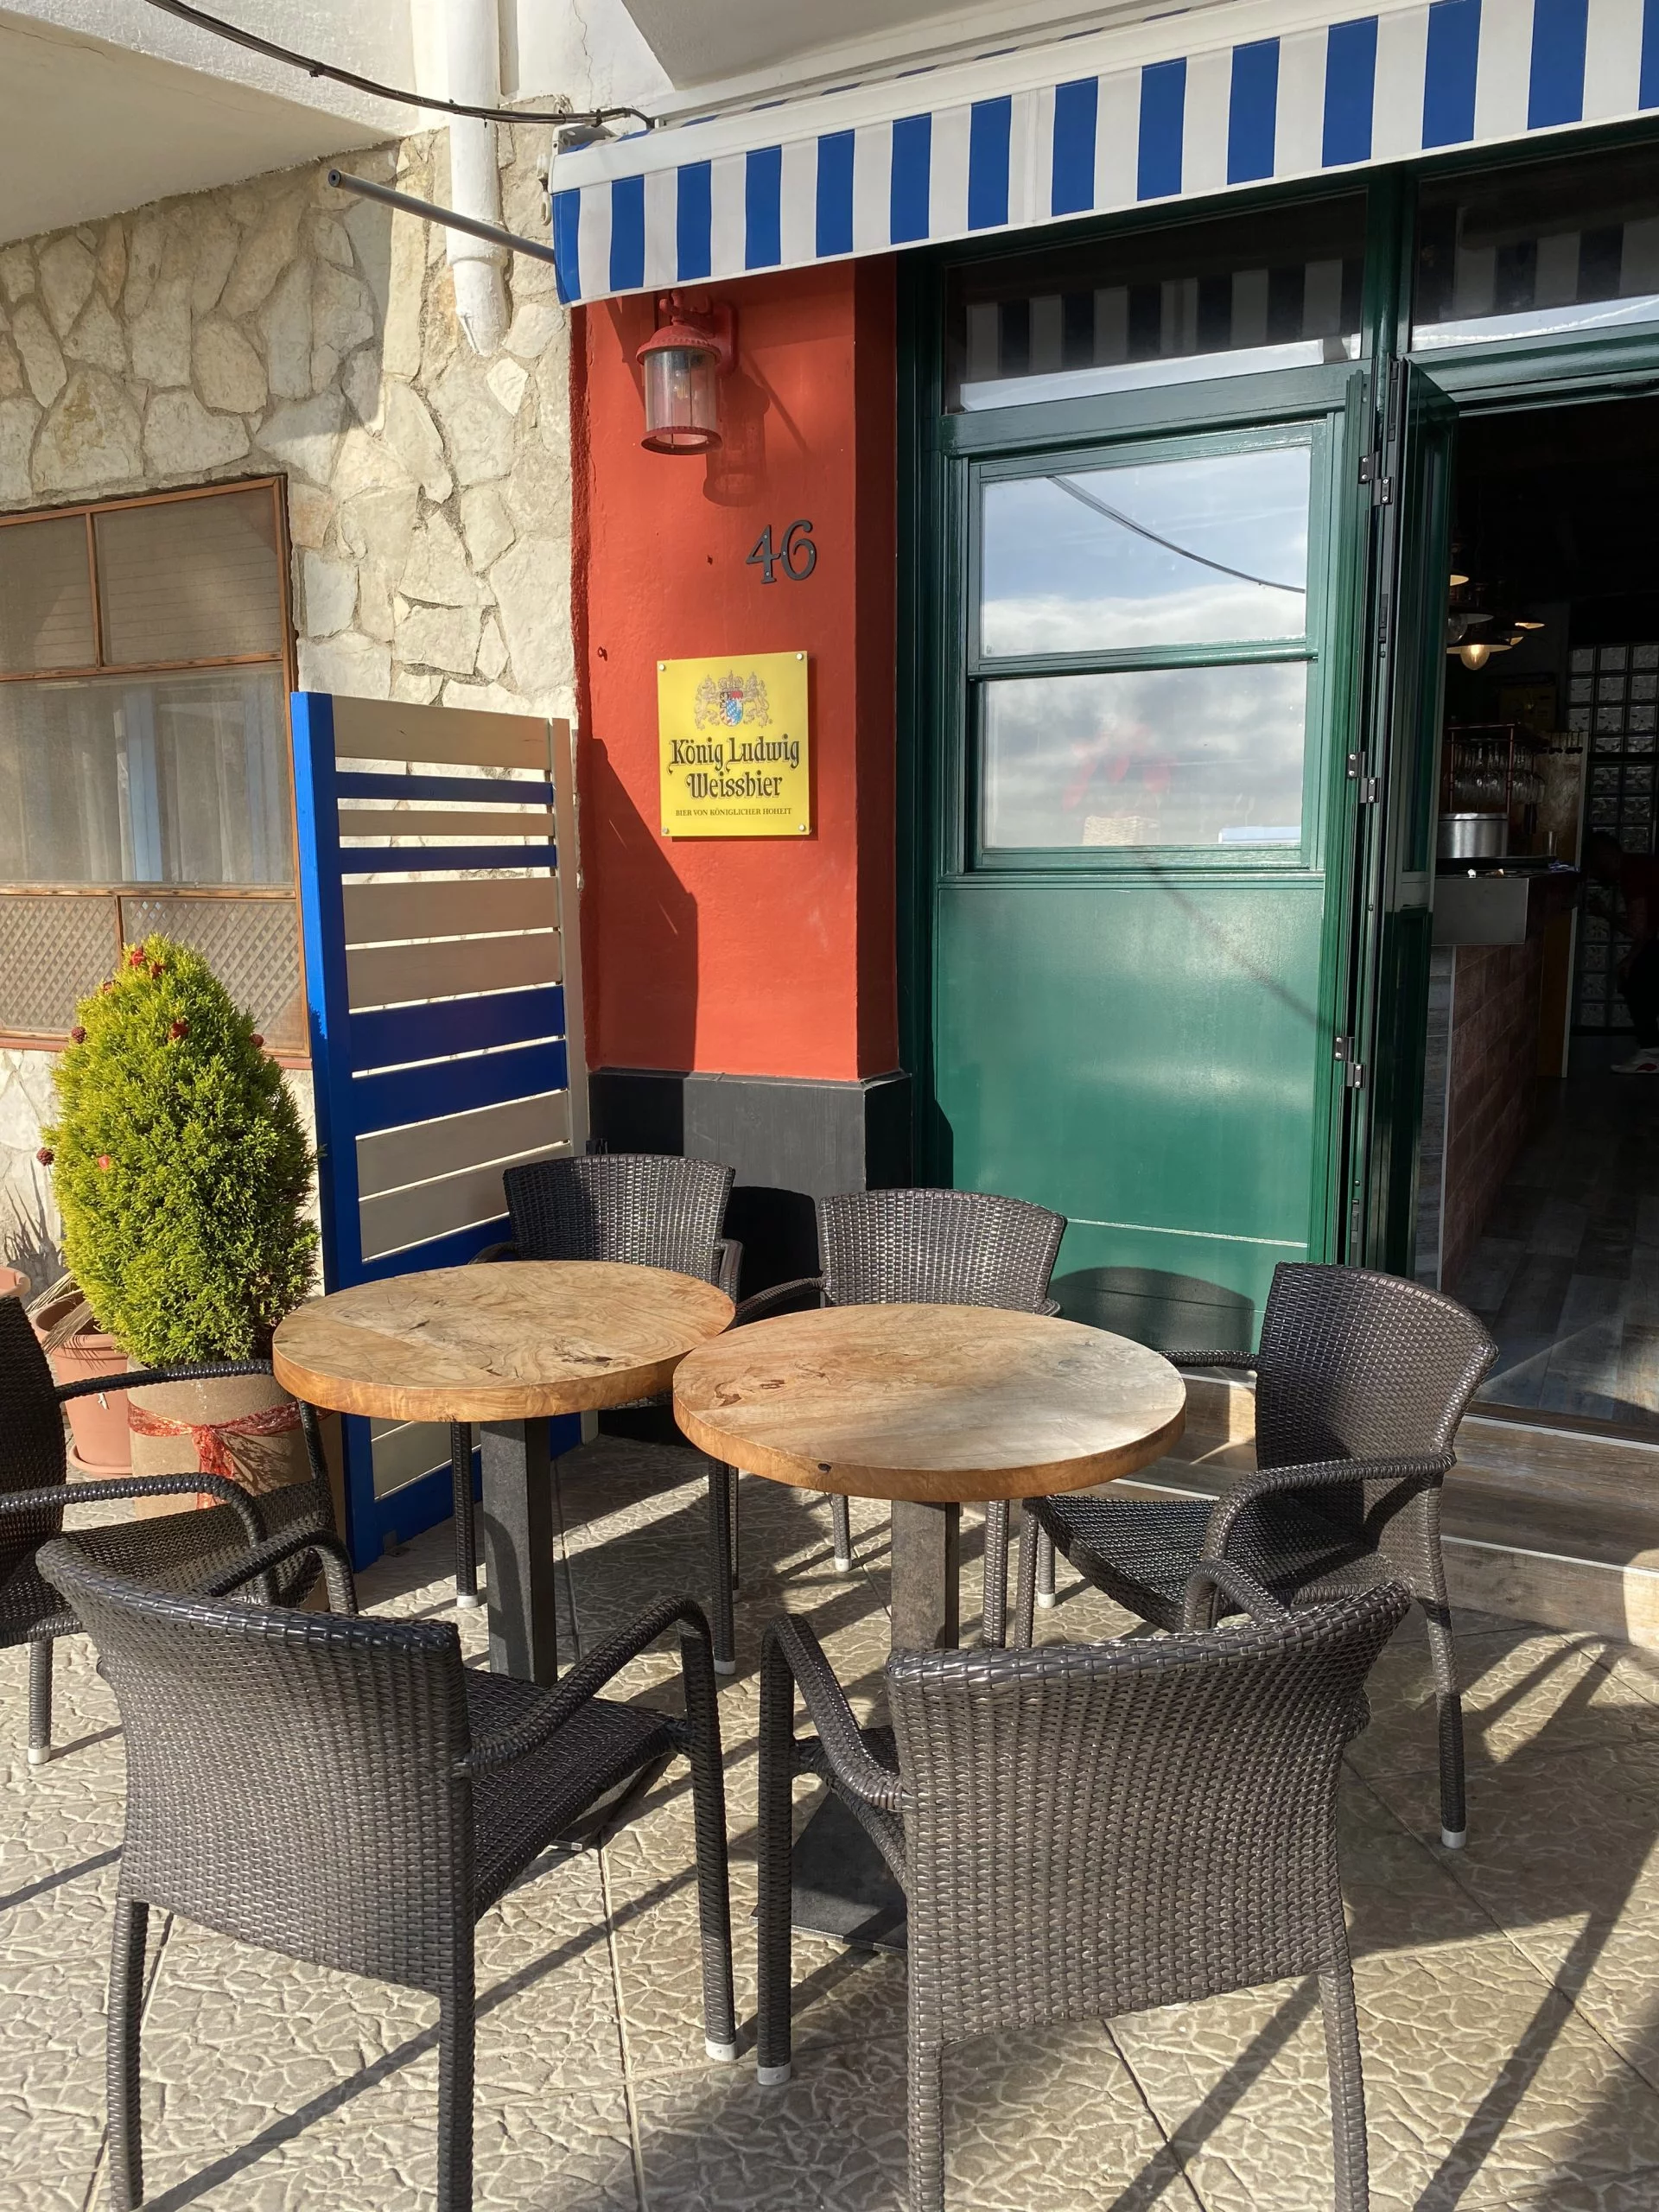
[[[1192,1577],[1250,1624],[1126,1644],[894,1652],[860,1730],[805,1619],[761,1659],[759,2077],[790,2077],[790,1785],[821,1776],[909,1913],[909,2212],[942,2212],[940,2059],[991,2028],[1110,2017],[1318,1975],[1338,2212],[1365,2212],[1365,2088],[1336,1783],[1365,1677],[1411,1597],[1285,1613],[1241,1568]],[[816,1736],[794,1734],[796,1686]]]

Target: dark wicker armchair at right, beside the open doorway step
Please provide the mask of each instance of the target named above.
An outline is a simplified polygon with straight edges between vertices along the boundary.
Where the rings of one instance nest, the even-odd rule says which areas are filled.
[[[1035,1498],[1020,1553],[1015,1639],[1031,1644],[1042,1551],[1130,1613],[1181,1624],[1201,1559],[1239,1559],[1285,1604],[1398,1579],[1429,1628],[1440,1719],[1440,1838],[1467,1840],[1462,1703],[1440,1557],[1440,1484],[1464,1407],[1495,1358],[1473,1314],[1365,1267],[1274,1267],[1261,1352],[1172,1352],[1181,1367],[1256,1376],[1256,1469],[1214,1504]],[[1048,1551],[1053,1588],[1053,1551]]]

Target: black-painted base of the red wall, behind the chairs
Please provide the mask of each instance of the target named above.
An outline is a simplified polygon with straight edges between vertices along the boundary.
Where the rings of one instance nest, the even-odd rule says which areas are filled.
[[[679,1152],[737,1168],[726,1214],[743,1292],[818,1272],[814,1199],[909,1183],[909,1075],[832,1084],[794,1075],[595,1068],[588,1128],[611,1152]]]

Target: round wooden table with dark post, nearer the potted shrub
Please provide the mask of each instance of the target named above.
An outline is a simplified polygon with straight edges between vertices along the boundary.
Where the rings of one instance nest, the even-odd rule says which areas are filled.
[[[489,1663],[551,1683],[549,1420],[668,1389],[732,1301],[712,1283],[611,1261],[431,1267],[356,1283],[276,1329],[283,1389],[336,1413],[478,1422],[484,1462]]]

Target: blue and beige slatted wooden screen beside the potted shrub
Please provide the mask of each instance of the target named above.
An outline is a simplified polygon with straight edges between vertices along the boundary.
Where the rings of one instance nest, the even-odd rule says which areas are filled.
[[[458,878],[445,887],[442,951],[469,953],[467,938],[515,942],[502,936],[500,885],[549,883],[557,872],[557,845],[546,836],[502,845],[343,845],[338,834],[341,805],[363,801],[438,801],[551,807],[555,783],[513,774],[507,781],[478,774],[403,774],[398,770],[336,770],[336,757],[376,759],[376,741],[405,752],[407,708],[398,708],[396,737],[387,723],[385,739],[376,732],[383,708],[367,701],[332,699],[323,692],[296,692],[294,728],[294,801],[301,847],[301,907],[305,927],[305,989],[310,998],[312,1075],[316,1093],[319,1194],[323,1212],[323,1281],[327,1290],[378,1281],[427,1267],[465,1265],[484,1245],[507,1234],[500,1208],[500,1164],[511,1157],[535,1157],[564,1150],[580,1141],[580,1053],[575,1079],[566,1022],[577,1020],[575,984],[540,982],[520,989],[476,989],[449,998],[414,998],[420,989],[420,945],[407,945],[409,887],[429,876]],[[473,717],[460,710],[414,710],[427,728],[420,732],[416,759],[429,763],[456,761],[478,768],[522,768],[526,748],[533,752],[544,726],[522,719]],[[502,732],[498,739],[491,730]],[[491,754],[491,743],[504,750]],[[407,757],[407,754],[405,754]],[[551,763],[549,763],[551,765]],[[557,770],[562,772],[562,770]],[[555,772],[555,774],[557,774]],[[392,818],[389,818],[392,823]],[[542,823],[535,823],[542,830]],[[418,816],[396,816],[396,832],[416,836]],[[487,872],[487,874],[484,874]],[[345,885],[352,889],[354,920],[372,911],[376,885],[363,878],[396,878],[389,894],[400,900],[396,929],[380,916],[385,936],[372,936],[372,922],[358,920],[349,936]],[[458,885],[478,891],[478,920],[469,929],[453,918]],[[549,920],[557,918],[557,894],[546,902]],[[540,905],[540,900],[531,900]],[[420,907],[416,907],[416,914]],[[553,947],[549,922],[529,922],[518,942]],[[369,931],[369,933],[365,933]],[[460,940],[458,945],[453,940]],[[354,945],[380,945],[374,962],[400,962],[396,991],[376,989],[400,1004],[352,1009]],[[352,953],[352,958],[358,958]],[[369,958],[367,953],[363,956]],[[533,953],[533,960],[551,953]],[[571,958],[575,953],[571,951]],[[549,969],[551,971],[551,969]],[[385,967],[358,969],[363,975],[385,975]],[[577,971],[580,973],[580,971]],[[445,984],[453,991],[453,982]],[[568,1108],[568,1115],[564,1113]],[[449,1119],[473,1117],[473,1119]],[[440,1124],[434,1128],[434,1124]],[[358,1139],[372,1139],[361,1150]],[[442,1161],[442,1166],[434,1166]],[[491,1203],[491,1197],[495,1203]],[[409,1212],[414,1206],[414,1212]],[[367,1210],[374,1208],[369,1214]],[[387,1212],[389,1210],[389,1212]],[[398,1250],[398,1232],[420,1221],[451,1228],[422,1234]],[[482,1214],[484,1219],[467,1219]],[[372,1234],[365,1234],[372,1221]],[[389,1232],[387,1232],[389,1221]],[[580,1422],[562,1425],[557,1449],[568,1449],[580,1436]],[[345,1491],[352,1557],[358,1566],[378,1557],[387,1537],[409,1537],[449,1515],[447,1464],[431,1464],[414,1480],[376,1495],[374,1442],[367,1420],[341,1422],[345,1440]],[[447,1453],[447,1433],[434,1431],[434,1460]],[[403,1438],[405,1453],[409,1438]],[[387,1444],[380,1444],[383,1455]],[[418,1467],[416,1453],[416,1467]]]

